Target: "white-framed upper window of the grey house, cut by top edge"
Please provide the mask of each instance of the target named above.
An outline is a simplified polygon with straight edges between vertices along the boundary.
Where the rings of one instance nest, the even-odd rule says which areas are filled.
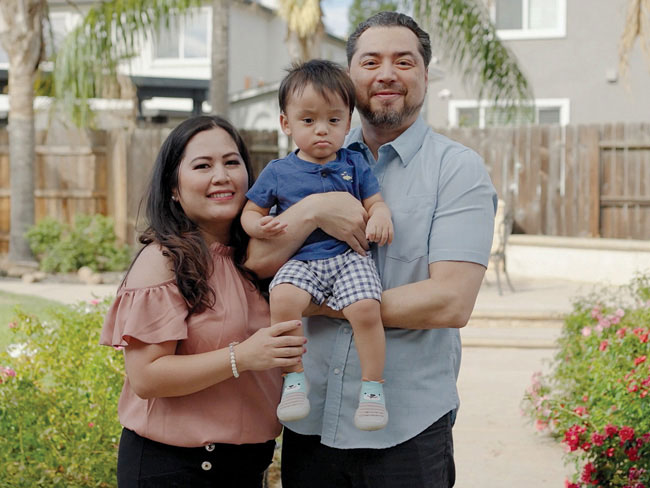
[[[566,35],[566,0],[495,0],[492,18],[501,39]]]

